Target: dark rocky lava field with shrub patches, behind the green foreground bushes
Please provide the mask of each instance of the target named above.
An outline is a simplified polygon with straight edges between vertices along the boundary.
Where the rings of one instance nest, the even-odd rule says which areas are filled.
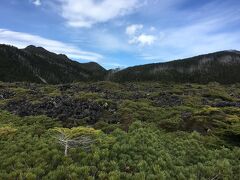
[[[46,115],[64,127],[88,125],[110,132],[127,130],[140,120],[167,131],[197,131],[235,141],[239,96],[239,85],[218,83],[2,83],[0,108],[21,117]]]

